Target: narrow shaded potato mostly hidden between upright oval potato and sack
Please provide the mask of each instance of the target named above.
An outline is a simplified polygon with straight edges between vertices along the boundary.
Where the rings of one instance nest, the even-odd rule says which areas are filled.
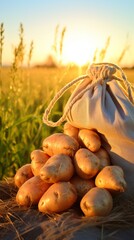
[[[100,159],[100,170],[102,168],[111,165],[110,156],[108,152],[101,147],[97,152],[94,153]]]

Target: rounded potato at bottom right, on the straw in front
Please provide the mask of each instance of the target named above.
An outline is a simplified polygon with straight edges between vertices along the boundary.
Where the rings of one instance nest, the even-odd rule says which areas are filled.
[[[113,198],[106,190],[94,187],[81,199],[80,208],[85,216],[106,216],[113,208]]]

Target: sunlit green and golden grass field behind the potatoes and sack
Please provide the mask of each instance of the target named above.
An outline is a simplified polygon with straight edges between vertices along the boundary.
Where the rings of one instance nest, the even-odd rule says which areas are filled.
[[[1,69],[0,98],[0,179],[12,177],[16,170],[30,162],[30,153],[41,148],[48,135],[62,131],[62,126],[51,128],[42,122],[50,100],[67,82],[85,74],[86,69],[25,68],[17,71],[16,79],[10,68]],[[134,82],[134,70],[125,70]],[[56,121],[63,112],[71,88],[55,105],[51,119]]]

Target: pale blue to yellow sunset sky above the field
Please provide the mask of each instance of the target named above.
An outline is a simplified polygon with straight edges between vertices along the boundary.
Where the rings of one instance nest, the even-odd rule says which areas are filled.
[[[110,45],[105,61],[116,61],[123,48],[129,48],[121,62],[134,65],[133,0],[1,0],[0,23],[4,23],[3,63],[11,63],[23,23],[26,52],[34,42],[32,63],[42,63],[52,54],[55,28],[66,27],[63,61],[82,64],[92,61],[96,50]]]

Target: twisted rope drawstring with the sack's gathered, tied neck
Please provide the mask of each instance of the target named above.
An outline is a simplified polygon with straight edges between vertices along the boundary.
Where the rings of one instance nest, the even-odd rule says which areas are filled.
[[[114,76],[113,74],[116,72],[116,70],[119,70],[120,74],[121,74],[121,78]],[[51,114],[51,111],[55,105],[55,103],[61,98],[61,96],[71,87],[73,86],[75,83],[84,80],[85,78],[89,78],[90,80],[90,84],[88,85],[88,87],[86,87],[85,89],[83,89],[80,93],[78,93],[78,95],[76,97],[74,97],[72,99],[72,101],[69,103],[68,108],[66,109],[66,111],[64,111],[63,115],[60,117],[60,119],[56,122],[50,121],[49,115]],[[66,116],[69,112],[69,110],[71,109],[71,107],[73,106],[73,104],[86,92],[88,91],[91,87],[94,87],[96,84],[98,83],[103,83],[103,81],[111,81],[112,79],[117,80],[117,81],[123,81],[125,88],[128,92],[128,98],[131,101],[131,103],[134,103],[134,98],[133,98],[133,90],[132,90],[132,85],[129,83],[129,81],[127,80],[123,70],[112,63],[97,63],[97,64],[92,64],[89,68],[89,70],[87,70],[87,74],[80,76],[74,80],[72,80],[71,82],[67,83],[59,92],[57,92],[57,94],[54,96],[54,98],[51,100],[51,102],[49,103],[48,107],[46,108],[44,114],[43,114],[43,122],[45,124],[47,124],[48,126],[51,127],[57,127],[59,126],[62,122],[64,122],[66,120]]]

